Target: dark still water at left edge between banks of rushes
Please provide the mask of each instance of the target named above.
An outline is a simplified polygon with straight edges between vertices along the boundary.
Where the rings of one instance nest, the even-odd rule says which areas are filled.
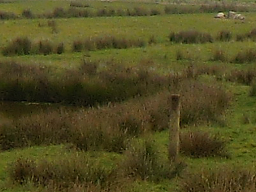
[[[35,113],[67,109],[76,110],[74,106],[63,106],[61,104],[51,103],[36,103],[36,102],[9,102],[0,101],[0,116],[4,118],[19,118],[24,115],[31,115]]]

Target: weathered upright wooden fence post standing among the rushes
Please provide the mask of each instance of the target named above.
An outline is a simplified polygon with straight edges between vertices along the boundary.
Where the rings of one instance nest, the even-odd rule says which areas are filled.
[[[177,161],[180,150],[180,95],[173,94],[170,97],[170,122],[169,122],[169,159]]]

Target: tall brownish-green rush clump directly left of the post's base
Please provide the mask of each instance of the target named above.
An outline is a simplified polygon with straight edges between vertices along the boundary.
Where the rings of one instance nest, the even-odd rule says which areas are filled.
[[[163,160],[152,140],[143,140],[134,143],[125,151],[125,160],[122,164],[125,175],[131,178],[140,178],[157,182],[171,179],[174,165]]]

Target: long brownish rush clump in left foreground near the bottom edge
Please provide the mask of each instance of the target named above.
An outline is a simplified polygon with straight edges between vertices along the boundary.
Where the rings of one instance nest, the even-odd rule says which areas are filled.
[[[8,169],[10,179],[17,184],[33,182],[43,187],[63,190],[75,184],[93,184],[101,189],[112,182],[112,170],[107,170],[88,157],[76,156],[54,161],[17,159]],[[52,185],[52,186],[51,186]]]

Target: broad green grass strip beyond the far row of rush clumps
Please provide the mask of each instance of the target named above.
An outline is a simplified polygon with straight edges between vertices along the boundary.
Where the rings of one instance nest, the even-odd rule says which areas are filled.
[[[172,31],[196,29],[215,36],[219,31],[227,29],[235,35],[246,33],[255,26],[255,15],[252,13],[246,13],[244,23],[236,20],[217,20],[213,19],[213,16],[212,13],[202,13],[152,17],[56,19],[58,33],[51,32],[51,28],[47,26],[47,19],[4,20],[1,24],[0,45],[1,47],[6,45],[17,36],[28,36],[33,41],[49,39],[70,46],[72,41],[79,38],[109,34],[147,39],[155,35],[157,42],[166,42]],[[43,26],[39,27],[38,24]]]

